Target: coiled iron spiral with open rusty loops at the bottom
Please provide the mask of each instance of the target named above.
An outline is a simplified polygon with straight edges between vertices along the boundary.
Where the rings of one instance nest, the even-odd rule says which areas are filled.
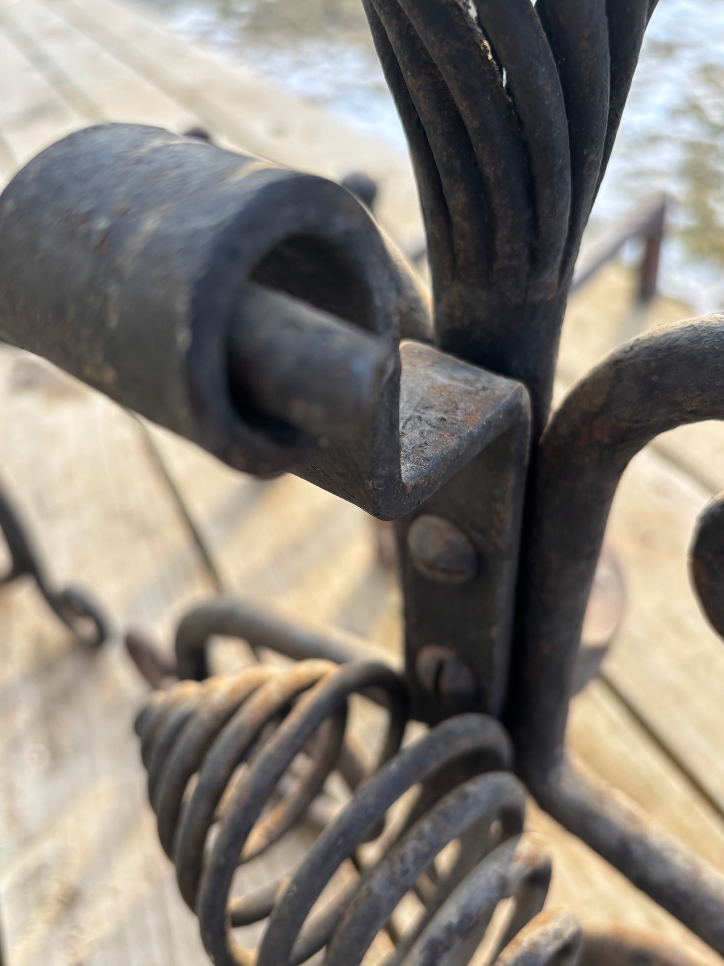
[[[388,708],[369,776],[346,744],[355,694],[374,694]],[[575,919],[542,911],[550,861],[539,839],[523,833],[525,792],[510,772],[503,727],[460,715],[403,747],[405,706],[403,680],[390,668],[310,660],[183,681],[156,692],[141,711],[136,730],[160,840],[217,966],[292,966],[322,950],[327,966],[359,966],[385,929],[394,941],[385,966],[467,964],[484,940],[489,946],[491,917],[507,897],[513,910],[493,943],[499,966],[577,960]],[[238,895],[237,867],[286,836],[334,770],[351,797],[299,867]],[[411,789],[413,803],[392,841],[319,911],[335,873],[380,835],[388,811]],[[440,867],[454,841],[457,858]],[[405,895],[421,906],[399,934],[392,916]],[[263,921],[259,951],[242,947],[234,930]]]

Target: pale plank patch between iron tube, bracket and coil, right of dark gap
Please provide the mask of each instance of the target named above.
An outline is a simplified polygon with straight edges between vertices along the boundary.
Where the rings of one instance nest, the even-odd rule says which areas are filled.
[[[294,476],[257,480],[166,431],[152,435],[227,592],[400,645],[400,590],[378,566],[366,514]]]

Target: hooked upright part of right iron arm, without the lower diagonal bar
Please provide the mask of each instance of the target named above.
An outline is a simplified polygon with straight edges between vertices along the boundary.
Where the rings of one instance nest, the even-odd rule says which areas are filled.
[[[660,433],[724,419],[722,358],[722,315],[656,329],[575,385],[543,434],[509,708],[526,775],[544,773],[562,754],[583,617],[619,480]]]

